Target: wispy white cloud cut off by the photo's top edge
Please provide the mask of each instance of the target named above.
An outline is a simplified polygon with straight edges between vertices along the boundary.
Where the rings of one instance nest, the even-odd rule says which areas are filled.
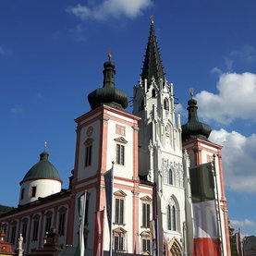
[[[68,6],[67,12],[82,20],[88,18],[104,20],[121,16],[135,18],[142,13],[142,10],[150,6],[152,6],[152,0],[104,0],[102,4],[96,6]]]

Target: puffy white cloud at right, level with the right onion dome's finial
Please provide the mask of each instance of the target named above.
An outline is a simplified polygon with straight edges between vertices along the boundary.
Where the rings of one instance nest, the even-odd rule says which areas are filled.
[[[224,73],[217,90],[217,94],[201,91],[195,96],[201,117],[222,124],[229,124],[236,118],[256,120],[256,74]]]

